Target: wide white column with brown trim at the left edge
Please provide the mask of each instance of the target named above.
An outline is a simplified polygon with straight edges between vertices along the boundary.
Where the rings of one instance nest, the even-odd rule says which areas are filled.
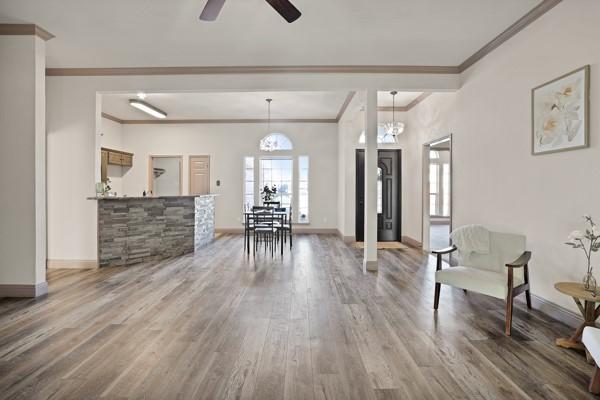
[[[0,28],[0,297],[37,297],[48,290],[44,41],[49,34],[34,25]]]

